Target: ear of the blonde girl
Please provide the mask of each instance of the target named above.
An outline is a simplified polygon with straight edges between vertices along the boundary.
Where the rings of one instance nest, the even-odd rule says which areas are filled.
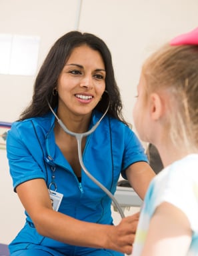
[[[151,118],[156,121],[163,114],[163,103],[159,94],[151,93],[150,103]]]

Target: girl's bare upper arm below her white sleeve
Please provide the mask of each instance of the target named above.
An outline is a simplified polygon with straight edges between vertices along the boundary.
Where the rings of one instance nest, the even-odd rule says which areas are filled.
[[[190,223],[183,211],[171,203],[161,203],[151,219],[141,256],[185,256],[191,236]]]

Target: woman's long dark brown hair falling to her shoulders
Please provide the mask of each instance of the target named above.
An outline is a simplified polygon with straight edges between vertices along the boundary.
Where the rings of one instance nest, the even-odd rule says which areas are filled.
[[[95,109],[104,113],[110,99],[109,115],[127,124],[122,115],[123,105],[119,88],[115,81],[111,52],[105,42],[99,37],[91,33],[81,33],[79,31],[66,33],[51,47],[35,80],[32,101],[25,111],[21,113],[19,120],[41,117],[48,113],[49,106],[47,101],[49,101],[51,107],[57,107],[58,95],[53,95],[53,89],[56,87],[59,75],[73,49],[81,45],[88,45],[91,49],[99,51],[105,63],[105,91],[107,93],[103,93],[103,97]]]

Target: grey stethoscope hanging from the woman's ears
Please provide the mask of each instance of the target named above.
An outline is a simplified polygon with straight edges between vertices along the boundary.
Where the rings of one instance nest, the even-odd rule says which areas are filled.
[[[101,122],[101,120],[103,119],[103,117],[105,117],[107,111],[109,110],[109,106],[110,106],[110,100],[109,100],[109,104],[107,106],[107,109],[105,111],[105,113],[103,113],[102,117],[99,119],[99,121],[97,121],[97,123],[95,123],[95,125],[93,125],[93,127],[89,130],[86,131],[85,133],[73,133],[73,131],[69,131],[69,129],[67,129],[67,127],[64,125],[64,123],[61,121],[61,119],[59,119],[59,117],[57,117],[55,111],[53,111],[51,105],[49,104],[49,101],[47,101],[48,105],[49,105],[49,109],[51,110],[51,112],[53,113],[53,115],[55,116],[55,118],[57,119],[57,122],[59,123],[59,125],[61,126],[61,128],[63,129],[63,131],[65,131],[65,133],[68,133],[71,136],[74,136],[77,139],[77,148],[78,148],[78,157],[79,157],[79,163],[81,165],[81,168],[83,169],[83,171],[85,172],[85,174],[95,183],[97,184],[113,201],[113,203],[115,204],[115,207],[117,208],[117,211],[119,211],[119,214],[121,215],[121,218],[124,218],[125,215],[123,213],[123,210],[121,209],[119,203],[117,202],[117,200],[115,199],[115,197],[113,196],[113,194],[106,189],[106,187],[103,186],[103,184],[101,184],[97,179],[95,179],[95,177],[93,177],[91,175],[91,173],[89,173],[89,171],[87,171],[84,163],[83,163],[83,157],[82,157],[82,153],[81,153],[81,143],[82,143],[82,139],[83,137],[86,137],[88,135],[90,135],[91,133],[93,133],[95,131],[95,129],[97,129],[97,127],[99,126],[99,123]]]

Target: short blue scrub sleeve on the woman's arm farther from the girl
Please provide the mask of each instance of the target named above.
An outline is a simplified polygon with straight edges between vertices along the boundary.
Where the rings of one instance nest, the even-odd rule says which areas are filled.
[[[31,136],[29,137],[31,139]],[[45,179],[45,175],[29,149],[21,139],[15,124],[7,135],[7,159],[9,171],[13,179],[14,189],[17,185],[31,179]]]

